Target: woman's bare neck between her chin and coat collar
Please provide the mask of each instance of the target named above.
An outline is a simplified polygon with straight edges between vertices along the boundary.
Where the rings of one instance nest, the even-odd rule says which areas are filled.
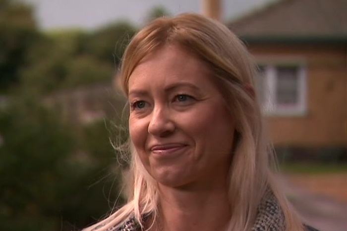
[[[216,180],[180,188],[159,186],[164,231],[225,230],[231,218],[226,182]]]

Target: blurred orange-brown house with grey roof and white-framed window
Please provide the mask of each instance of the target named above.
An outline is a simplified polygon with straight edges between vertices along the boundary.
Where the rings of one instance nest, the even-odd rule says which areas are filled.
[[[228,27],[259,65],[275,147],[346,160],[347,0],[277,0]]]

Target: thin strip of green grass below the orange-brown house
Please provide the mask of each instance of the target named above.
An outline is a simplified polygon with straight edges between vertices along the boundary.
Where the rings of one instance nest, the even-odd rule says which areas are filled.
[[[347,173],[347,164],[323,164],[323,163],[286,163],[280,164],[280,172],[283,173],[305,173],[305,174],[327,174]]]

